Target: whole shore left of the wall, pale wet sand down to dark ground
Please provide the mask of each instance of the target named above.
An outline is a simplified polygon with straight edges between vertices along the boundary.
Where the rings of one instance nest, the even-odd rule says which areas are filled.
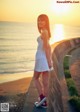
[[[0,103],[9,103],[10,112],[23,112],[33,72],[0,74]]]

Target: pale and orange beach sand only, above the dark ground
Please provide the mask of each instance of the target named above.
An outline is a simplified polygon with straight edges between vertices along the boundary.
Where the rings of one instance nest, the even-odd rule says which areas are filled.
[[[0,95],[26,93],[33,72],[0,75]]]

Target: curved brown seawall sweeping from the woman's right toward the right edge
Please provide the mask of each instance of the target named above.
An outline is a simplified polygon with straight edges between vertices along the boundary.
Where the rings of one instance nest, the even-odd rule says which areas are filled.
[[[49,78],[48,112],[70,112],[63,60],[70,50],[79,46],[80,38],[64,40],[52,45],[54,70],[50,72]]]

